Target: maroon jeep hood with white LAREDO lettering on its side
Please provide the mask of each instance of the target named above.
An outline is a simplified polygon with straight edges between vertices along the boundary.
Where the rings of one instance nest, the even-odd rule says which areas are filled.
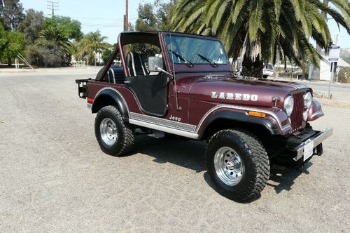
[[[190,88],[186,88],[190,99],[259,107],[274,107],[275,97],[280,99],[277,107],[283,107],[288,94],[308,88],[303,84],[285,81],[228,79],[222,76],[188,79],[187,85],[191,83],[190,80],[193,83]]]

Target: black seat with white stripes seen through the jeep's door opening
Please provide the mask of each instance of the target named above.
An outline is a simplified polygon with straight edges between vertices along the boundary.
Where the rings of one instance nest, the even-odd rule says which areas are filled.
[[[127,69],[129,70],[130,76],[149,75],[144,62],[144,58],[142,58],[142,55],[140,53],[127,53]]]

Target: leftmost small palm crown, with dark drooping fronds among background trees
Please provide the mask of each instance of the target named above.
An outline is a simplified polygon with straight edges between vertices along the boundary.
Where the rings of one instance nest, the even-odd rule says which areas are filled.
[[[71,42],[56,27],[48,27],[41,31],[36,44],[47,48],[57,48],[62,57],[68,57],[71,54]]]

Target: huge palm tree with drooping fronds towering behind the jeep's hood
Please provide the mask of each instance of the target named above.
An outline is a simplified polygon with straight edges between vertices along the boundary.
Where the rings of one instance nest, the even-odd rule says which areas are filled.
[[[332,45],[326,20],[330,15],[350,34],[350,10],[346,0],[330,0],[331,8],[318,0],[180,0],[172,15],[174,30],[220,37],[230,56],[244,56],[244,72],[278,58],[298,65],[320,55],[310,38],[328,52]],[[255,74],[257,75],[257,74]]]

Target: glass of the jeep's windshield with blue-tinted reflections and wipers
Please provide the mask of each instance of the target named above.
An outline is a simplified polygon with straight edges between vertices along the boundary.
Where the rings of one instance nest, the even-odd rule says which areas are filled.
[[[165,36],[170,60],[175,64],[227,65],[228,56],[221,41],[190,36]]]

